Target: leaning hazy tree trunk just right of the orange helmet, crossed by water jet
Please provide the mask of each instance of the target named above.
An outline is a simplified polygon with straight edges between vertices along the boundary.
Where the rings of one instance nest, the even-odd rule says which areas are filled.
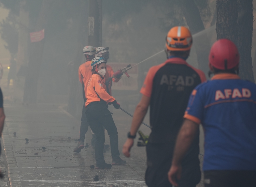
[[[203,21],[194,0],[181,0],[180,2],[182,5],[183,15],[191,34],[196,34],[204,30]],[[207,75],[209,71],[208,55],[211,49],[207,33],[201,33],[200,38],[193,41],[193,45],[195,46],[197,53],[198,68]]]

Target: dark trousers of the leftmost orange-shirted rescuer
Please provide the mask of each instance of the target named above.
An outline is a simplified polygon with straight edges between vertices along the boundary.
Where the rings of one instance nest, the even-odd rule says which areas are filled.
[[[85,134],[88,131],[88,127],[89,127],[89,123],[87,122],[87,118],[86,118],[86,107],[85,107],[85,102],[84,101],[84,105],[83,105],[83,109],[82,109],[82,118],[81,118],[81,125],[80,125],[80,135],[79,135],[79,141],[84,142],[85,140]],[[95,146],[95,142],[96,142],[96,136],[93,135],[93,138],[91,139],[91,145]]]

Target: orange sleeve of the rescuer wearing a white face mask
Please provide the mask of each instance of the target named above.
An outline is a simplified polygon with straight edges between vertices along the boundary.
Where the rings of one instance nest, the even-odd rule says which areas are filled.
[[[115,100],[114,97],[112,97],[108,94],[108,92],[106,92],[104,88],[104,82],[99,75],[95,76],[92,81],[95,92],[99,95],[99,97],[102,100],[104,100],[107,103],[113,102]]]

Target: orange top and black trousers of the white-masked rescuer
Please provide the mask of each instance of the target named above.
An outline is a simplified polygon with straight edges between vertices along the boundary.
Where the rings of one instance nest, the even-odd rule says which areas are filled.
[[[112,118],[112,113],[108,110],[108,104],[115,102],[115,98],[106,92],[104,77],[99,74],[93,74],[91,76],[87,86],[86,98],[86,117],[91,130],[96,135],[95,159],[96,165],[100,166],[105,163],[103,156],[105,142],[104,128],[108,131],[110,138],[112,158],[120,158],[117,128]]]

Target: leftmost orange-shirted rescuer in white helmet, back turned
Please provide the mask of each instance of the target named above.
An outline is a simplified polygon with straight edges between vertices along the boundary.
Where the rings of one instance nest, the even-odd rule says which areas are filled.
[[[89,127],[89,124],[87,122],[86,115],[85,115],[86,90],[87,90],[87,84],[89,82],[89,79],[91,78],[91,60],[95,57],[96,50],[93,46],[89,45],[84,47],[83,53],[86,58],[86,62],[80,65],[78,69],[78,76],[79,76],[79,81],[83,85],[84,105],[82,110],[79,142],[74,149],[74,152],[76,153],[80,153],[81,149],[84,148],[85,134]]]

